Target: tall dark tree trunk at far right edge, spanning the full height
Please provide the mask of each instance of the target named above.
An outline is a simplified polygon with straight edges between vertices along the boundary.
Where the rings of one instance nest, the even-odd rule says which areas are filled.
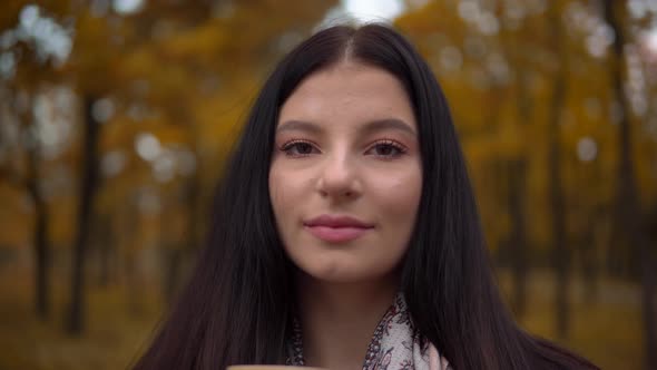
[[[633,142],[629,120],[627,97],[622,89],[622,69],[625,61],[625,35],[618,17],[618,8],[615,2],[605,0],[605,20],[614,30],[614,56],[610,59],[610,72],[612,80],[612,95],[620,106],[621,119],[619,121],[619,166],[618,185],[616,188],[616,204],[612,222],[612,241],[626,241],[629,245],[610,245],[614,251],[619,247],[629,247],[634,260],[640,260],[641,283],[643,283],[643,310],[644,310],[644,351],[645,368],[657,369],[657,328],[655,322],[655,263],[649,250],[645,232],[641,226],[643,215],[639,208],[638,191],[635,178],[635,168],[631,160]],[[620,6],[620,3],[616,3]]]

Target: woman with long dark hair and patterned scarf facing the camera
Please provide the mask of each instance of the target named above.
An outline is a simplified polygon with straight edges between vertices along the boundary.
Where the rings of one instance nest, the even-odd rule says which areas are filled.
[[[239,363],[596,368],[506,310],[445,98],[385,26],[323,30],[274,70],[136,369]]]

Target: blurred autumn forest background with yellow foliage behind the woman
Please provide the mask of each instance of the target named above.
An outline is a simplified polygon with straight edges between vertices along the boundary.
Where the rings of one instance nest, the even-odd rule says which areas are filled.
[[[657,369],[657,0],[2,0],[0,369],[128,367],[264,78],[352,19],[441,81],[521,325]]]

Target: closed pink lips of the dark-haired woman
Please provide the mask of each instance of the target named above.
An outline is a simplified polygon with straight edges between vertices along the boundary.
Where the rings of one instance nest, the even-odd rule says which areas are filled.
[[[345,243],[361,237],[374,225],[349,216],[322,215],[304,222],[304,227],[325,242]]]

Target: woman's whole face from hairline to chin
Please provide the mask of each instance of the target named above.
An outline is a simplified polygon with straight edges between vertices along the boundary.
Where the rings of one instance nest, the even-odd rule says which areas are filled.
[[[388,71],[340,62],[283,105],[269,195],[285,251],[306,274],[363,282],[393,273],[421,187],[413,109]]]

